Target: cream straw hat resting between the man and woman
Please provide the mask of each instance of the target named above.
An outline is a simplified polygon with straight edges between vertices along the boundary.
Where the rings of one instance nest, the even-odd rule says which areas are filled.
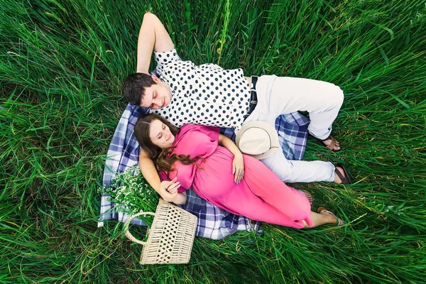
[[[264,121],[250,121],[236,135],[236,146],[244,154],[261,160],[268,158],[279,148],[278,133]]]

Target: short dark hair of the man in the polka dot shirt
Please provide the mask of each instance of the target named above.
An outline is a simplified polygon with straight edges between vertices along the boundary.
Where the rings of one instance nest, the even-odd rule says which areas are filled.
[[[155,83],[151,75],[145,73],[133,73],[124,79],[123,94],[127,102],[140,105],[145,88],[151,87]]]

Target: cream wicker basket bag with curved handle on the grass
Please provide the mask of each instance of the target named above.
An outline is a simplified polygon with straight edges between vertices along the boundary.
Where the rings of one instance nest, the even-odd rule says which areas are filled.
[[[148,227],[148,241],[139,241],[129,231],[131,219],[151,214],[154,221]],[[130,217],[124,224],[126,236],[143,245],[141,264],[188,263],[194,242],[197,217],[184,209],[160,199],[155,214],[140,212]]]

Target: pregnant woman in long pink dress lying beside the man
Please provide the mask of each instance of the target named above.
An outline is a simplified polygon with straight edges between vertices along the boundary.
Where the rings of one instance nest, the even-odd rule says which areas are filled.
[[[157,114],[147,114],[134,131],[163,180],[154,188],[167,201],[185,204],[185,190],[192,187],[217,207],[261,222],[297,229],[344,224],[324,207],[311,212],[305,194],[242,154],[217,127],[187,124],[178,129]]]

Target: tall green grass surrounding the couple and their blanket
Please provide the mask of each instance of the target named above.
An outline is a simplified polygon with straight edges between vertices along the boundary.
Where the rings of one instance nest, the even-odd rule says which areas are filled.
[[[308,141],[305,158],[342,161],[357,182],[294,186],[346,226],[197,238],[190,263],[168,266],[139,265],[122,224],[97,228],[146,10],[196,64],[344,89],[344,151]],[[0,283],[424,282],[424,1],[1,0],[0,14]]]

